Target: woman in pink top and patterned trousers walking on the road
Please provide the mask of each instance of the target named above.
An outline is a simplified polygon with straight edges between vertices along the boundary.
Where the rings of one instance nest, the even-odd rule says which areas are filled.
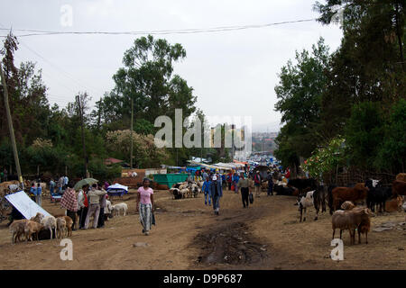
[[[140,212],[143,234],[150,235],[152,227],[153,190],[150,188],[150,180],[148,178],[143,179],[143,187],[138,189],[137,211]]]

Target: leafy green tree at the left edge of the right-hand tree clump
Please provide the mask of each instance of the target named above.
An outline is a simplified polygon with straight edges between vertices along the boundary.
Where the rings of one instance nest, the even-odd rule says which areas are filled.
[[[279,101],[275,110],[281,112],[284,126],[277,138],[277,156],[284,166],[299,166],[299,157],[309,157],[318,142],[326,139],[319,133],[321,95],[327,85],[328,46],[320,38],[307,50],[296,52],[281,68],[280,82],[275,86]]]

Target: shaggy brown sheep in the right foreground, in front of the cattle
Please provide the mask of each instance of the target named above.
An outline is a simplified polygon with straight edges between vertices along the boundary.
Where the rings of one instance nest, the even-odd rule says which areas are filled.
[[[363,207],[354,208],[352,210],[337,210],[333,213],[331,218],[332,229],[333,229],[333,239],[336,233],[336,229],[340,229],[340,238],[342,238],[343,230],[348,230],[350,234],[350,244],[355,243],[355,229],[358,229],[360,224],[363,223],[362,230],[364,231],[365,228],[369,230],[369,226],[367,227],[368,218],[371,216],[372,212]],[[370,225],[370,224],[369,224]],[[360,233],[360,231],[358,231]],[[367,231],[366,231],[367,233]],[[359,237],[359,236],[358,236]]]

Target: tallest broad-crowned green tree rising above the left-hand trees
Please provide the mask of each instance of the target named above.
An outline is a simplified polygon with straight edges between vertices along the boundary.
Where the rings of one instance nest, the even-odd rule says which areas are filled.
[[[134,100],[134,121],[153,123],[158,116],[174,116],[174,108],[184,117],[195,111],[193,89],[180,76],[173,75],[173,64],[186,57],[177,43],[155,40],[151,35],[134,41],[125,51],[123,63],[113,76],[115,88],[103,98],[106,123],[120,122],[130,127],[131,100]]]

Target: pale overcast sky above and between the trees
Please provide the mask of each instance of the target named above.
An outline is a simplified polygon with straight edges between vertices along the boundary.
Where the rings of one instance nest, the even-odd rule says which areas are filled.
[[[314,0],[14,0],[0,2],[0,28],[39,31],[157,31],[260,25],[314,19]],[[66,5],[71,9],[66,10]],[[71,17],[69,17],[71,15]],[[5,35],[8,31],[0,31]],[[29,32],[14,31],[15,35]],[[112,76],[135,35],[40,35],[21,37],[16,64],[36,62],[50,103],[64,107],[87,91],[91,105],[115,83]],[[295,51],[320,37],[330,52],[340,45],[338,25],[316,21],[239,31],[155,35],[180,43],[187,57],[174,73],[187,80],[207,116],[251,117],[253,131],[278,131],[274,111],[278,73]],[[2,41],[4,38],[0,38]]]

